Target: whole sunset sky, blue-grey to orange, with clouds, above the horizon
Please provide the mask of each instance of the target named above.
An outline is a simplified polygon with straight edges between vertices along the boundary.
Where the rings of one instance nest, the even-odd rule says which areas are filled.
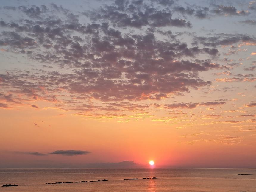
[[[256,168],[256,1],[0,2],[0,168]]]

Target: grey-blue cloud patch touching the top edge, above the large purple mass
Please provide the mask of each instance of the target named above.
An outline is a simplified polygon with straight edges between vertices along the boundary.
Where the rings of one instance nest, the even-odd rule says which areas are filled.
[[[163,6],[170,6],[174,3],[172,0],[152,0]],[[115,1],[112,5],[105,5],[101,10],[84,12],[91,20],[110,21],[118,27],[143,26],[177,26],[191,27],[191,23],[177,18],[171,18],[171,11],[168,9],[157,9],[149,4],[143,4],[142,1]]]

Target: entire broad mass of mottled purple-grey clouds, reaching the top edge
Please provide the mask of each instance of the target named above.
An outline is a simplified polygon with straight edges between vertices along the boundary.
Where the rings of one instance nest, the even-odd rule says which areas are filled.
[[[0,21],[0,46],[43,63],[45,70],[0,74],[1,86],[11,91],[0,95],[0,99],[12,104],[22,104],[24,99],[43,100],[78,113],[143,111],[149,106],[132,102],[161,100],[210,85],[211,81],[203,79],[200,72],[229,69],[207,58],[218,58],[218,46],[256,43],[249,35],[224,33],[212,37],[190,34],[194,37],[192,45],[183,42],[182,35],[188,33],[173,33],[171,28],[192,25],[184,15],[175,18],[173,11],[206,18],[210,10],[184,8],[169,0],[111,1],[83,13],[72,13],[56,4],[5,10],[22,13],[24,18]],[[223,10],[227,11],[225,7]],[[86,24],[79,20],[85,16]],[[166,26],[171,30],[166,30]],[[206,59],[195,59],[200,54]],[[239,81],[253,80],[244,78]],[[69,99],[58,96],[60,90]],[[58,99],[63,100],[62,105],[57,105]],[[91,99],[130,104],[96,106],[88,104]]]

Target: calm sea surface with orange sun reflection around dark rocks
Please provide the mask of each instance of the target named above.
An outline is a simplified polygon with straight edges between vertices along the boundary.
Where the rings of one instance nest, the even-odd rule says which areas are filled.
[[[139,179],[123,180],[129,178]],[[108,181],[79,182],[103,179]],[[74,183],[46,185],[69,181]],[[18,186],[0,187],[0,191],[256,192],[256,169],[0,169],[0,185],[4,184]]]

